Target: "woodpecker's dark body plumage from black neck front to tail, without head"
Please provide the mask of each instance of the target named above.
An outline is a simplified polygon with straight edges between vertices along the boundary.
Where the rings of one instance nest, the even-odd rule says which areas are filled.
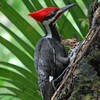
[[[34,60],[38,73],[38,83],[42,92],[43,100],[50,100],[54,93],[52,82],[49,77],[56,79],[67,67],[67,54],[64,46],[60,43],[60,37],[56,27],[51,25],[53,37],[41,38],[36,46]]]

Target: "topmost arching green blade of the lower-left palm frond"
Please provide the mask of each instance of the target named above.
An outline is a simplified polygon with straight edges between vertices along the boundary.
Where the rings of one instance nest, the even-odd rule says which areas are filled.
[[[23,93],[30,95],[36,94],[36,91],[33,91],[36,89],[35,81],[31,82],[29,79],[23,77],[22,75],[5,68],[0,68],[0,75],[12,80],[12,83],[20,91],[23,91]]]

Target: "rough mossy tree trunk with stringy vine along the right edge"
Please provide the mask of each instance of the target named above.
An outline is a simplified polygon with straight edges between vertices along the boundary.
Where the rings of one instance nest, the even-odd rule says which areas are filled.
[[[51,100],[100,100],[100,4],[89,12],[90,29],[72,54],[73,60]],[[74,57],[71,57],[74,55]]]

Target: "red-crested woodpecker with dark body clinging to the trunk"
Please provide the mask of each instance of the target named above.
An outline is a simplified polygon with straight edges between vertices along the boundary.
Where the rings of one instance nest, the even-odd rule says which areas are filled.
[[[63,8],[48,7],[28,14],[40,22],[45,30],[45,36],[37,43],[34,53],[34,64],[42,100],[51,100],[55,91],[52,81],[67,67],[68,57],[57,32],[56,21],[74,5],[69,4]]]

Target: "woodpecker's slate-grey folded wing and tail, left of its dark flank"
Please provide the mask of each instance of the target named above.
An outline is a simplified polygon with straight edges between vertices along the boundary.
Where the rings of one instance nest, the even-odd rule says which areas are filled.
[[[49,45],[46,38],[42,38],[34,53],[35,68],[38,74],[38,83],[43,100],[50,100],[54,90],[52,88],[49,77],[53,71],[53,49]]]

